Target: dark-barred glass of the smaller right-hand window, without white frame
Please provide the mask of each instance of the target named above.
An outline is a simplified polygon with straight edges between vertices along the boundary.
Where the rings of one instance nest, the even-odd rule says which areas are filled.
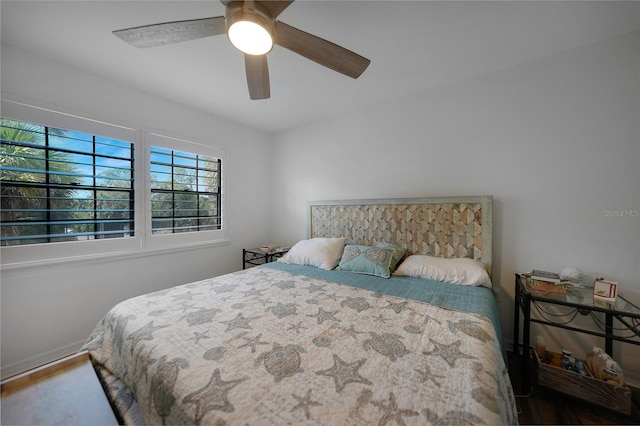
[[[151,147],[153,234],[220,229],[219,158]]]

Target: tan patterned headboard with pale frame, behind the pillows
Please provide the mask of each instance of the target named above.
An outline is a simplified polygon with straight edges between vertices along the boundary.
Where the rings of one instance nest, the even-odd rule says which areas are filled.
[[[310,238],[349,244],[392,242],[410,254],[469,257],[491,275],[493,197],[333,200],[309,203]]]

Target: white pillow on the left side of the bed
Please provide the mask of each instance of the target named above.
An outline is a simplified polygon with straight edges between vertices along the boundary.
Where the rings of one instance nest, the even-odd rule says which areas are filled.
[[[332,270],[342,258],[346,238],[311,238],[298,241],[278,262]]]

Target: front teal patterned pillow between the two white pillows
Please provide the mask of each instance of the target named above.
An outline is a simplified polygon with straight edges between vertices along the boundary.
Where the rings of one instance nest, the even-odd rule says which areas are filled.
[[[392,249],[346,245],[338,269],[389,278],[391,276],[392,259]]]

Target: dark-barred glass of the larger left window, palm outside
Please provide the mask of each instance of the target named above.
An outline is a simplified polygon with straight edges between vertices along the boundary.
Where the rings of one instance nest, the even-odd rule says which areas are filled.
[[[0,244],[130,237],[133,144],[0,119]]]

